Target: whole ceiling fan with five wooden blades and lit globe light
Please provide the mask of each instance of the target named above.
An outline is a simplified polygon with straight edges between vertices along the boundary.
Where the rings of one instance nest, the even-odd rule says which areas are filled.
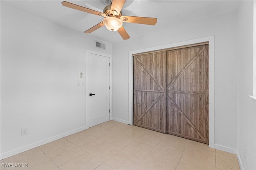
[[[108,0],[110,1],[110,0]],[[79,6],[76,4],[72,4],[70,2],[63,1],[62,5],[68,8],[72,8],[75,10],[80,10],[83,12],[87,12],[90,14],[94,14],[97,16],[104,17],[103,21],[98,23],[97,25],[91,27],[90,29],[84,31],[84,33],[92,33],[96,29],[99,29],[103,25],[110,31],[118,31],[123,39],[129,39],[130,36],[125,31],[124,27],[122,26],[123,22],[130,22],[130,23],[140,23],[146,25],[155,25],[157,20],[156,18],[148,18],[148,17],[136,17],[136,16],[122,16],[122,7],[124,5],[125,0],[112,0],[110,4],[107,5],[103,12],[98,12],[91,10],[89,8],[85,8],[83,6]]]

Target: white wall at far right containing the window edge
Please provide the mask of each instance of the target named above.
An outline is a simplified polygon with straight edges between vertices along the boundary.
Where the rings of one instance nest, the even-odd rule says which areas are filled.
[[[242,168],[253,170],[256,169],[256,102],[248,97],[252,95],[253,84],[253,1],[240,2],[237,37],[237,150]]]

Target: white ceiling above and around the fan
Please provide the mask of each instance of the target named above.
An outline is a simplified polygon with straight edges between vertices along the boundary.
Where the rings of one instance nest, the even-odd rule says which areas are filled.
[[[99,12],[105,7],[100,0],[66,1]],[[62,0],[1,0],[3,4],[81,33],[103,20],[103,17],[64,7],[61,2]],[[143,35],[145,31],[157,31],[178,22],[232,12],[237,10],[238,5],[237,0],[126,0],[122,15],[157,18],[157,23],[156,25],[123,23],[123,26],[130,37],[134,38]],[[125,41],[117,31],[108,31],[106,27],[97,29],[90,33],[90,36],[110,43]]]

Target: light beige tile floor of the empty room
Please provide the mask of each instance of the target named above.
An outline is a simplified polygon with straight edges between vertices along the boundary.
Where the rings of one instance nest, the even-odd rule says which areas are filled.
[[[27,163],[27,168],[10,169],[31,170],[240,169],[235,154],[116,121],[16,154],[2,163]]]

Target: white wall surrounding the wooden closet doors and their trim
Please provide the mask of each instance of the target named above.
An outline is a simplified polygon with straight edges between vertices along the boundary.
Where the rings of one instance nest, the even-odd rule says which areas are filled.
[[[112,118],[128,122],[129,51],[215,36],[215,147],[236,151],[236,12],[204,20],[190,20],[145,33],[144,37],[113,44]],[[127,30],[129,33],[129,30]]]

